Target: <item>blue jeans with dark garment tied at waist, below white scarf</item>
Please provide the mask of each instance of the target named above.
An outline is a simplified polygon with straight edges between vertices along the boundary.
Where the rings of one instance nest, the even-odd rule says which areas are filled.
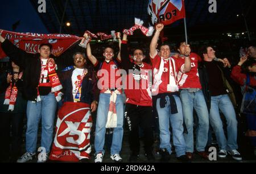
[[[171,114],[170,98],[166,97],[166,107],[160,107],[160,98],[156,101],[156,110],[159,117],[159,130],[160,130],[160,148],[166,148],[169,154],[171,154],[170,143],[170,122],[172,127],[172,139],[175,146],[176,156],[185,155],[186,144],[183,137],[183,114],[180,98],[174,96],[177,111],[176,114]]]

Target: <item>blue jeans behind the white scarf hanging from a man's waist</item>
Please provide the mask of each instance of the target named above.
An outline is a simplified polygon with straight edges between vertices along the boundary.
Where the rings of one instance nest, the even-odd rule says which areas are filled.
[[[104,154],[104,142],[106,133],[106,122],[108,119],[110,94],[100,94],[100,101],[98,103],[96,131],[94,146],[96,154],[102,152]],[[112,146],[110,148],[111,155],[119,154],[122,148],[123,139],[123,96],[117,95],[115,101],[115,107],[117,109],[117,127],[113,131]]]

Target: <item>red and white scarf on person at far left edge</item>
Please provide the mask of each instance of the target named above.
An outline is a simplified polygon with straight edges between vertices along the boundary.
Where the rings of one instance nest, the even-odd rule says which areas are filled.
[[[19,73],[19,79],[22,78],[22,72]],[[18,88],[16,87],[15,82],[10,83],[10,86],[6,89],[5,92],[5,101],[3,102],[3,105],[9,105],[8,110],[13,111],[15,102],[18,95]]]

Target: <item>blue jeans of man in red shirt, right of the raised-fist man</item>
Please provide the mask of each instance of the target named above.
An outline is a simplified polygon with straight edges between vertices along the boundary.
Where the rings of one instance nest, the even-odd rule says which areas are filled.
[[[209,113],[205,103],[202,90],[197,92],[189,92],[188,89],[183,89],[180,92],[180,100],[182,103],[183,117],[187,132],[184,133],[185,143],[187,144],[187,152],[194,151],[193,141],[193,108],[196,110],[198,125],[196,129],[196,150],[205,151],[208,140],[209,130]]]

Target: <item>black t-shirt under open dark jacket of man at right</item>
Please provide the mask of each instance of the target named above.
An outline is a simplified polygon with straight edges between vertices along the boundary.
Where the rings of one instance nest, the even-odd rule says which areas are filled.
[[[209,89],[211,96],[220,96],[226,94],[221,71],[217,67],[216,61],[204,61],[209,76]]]

